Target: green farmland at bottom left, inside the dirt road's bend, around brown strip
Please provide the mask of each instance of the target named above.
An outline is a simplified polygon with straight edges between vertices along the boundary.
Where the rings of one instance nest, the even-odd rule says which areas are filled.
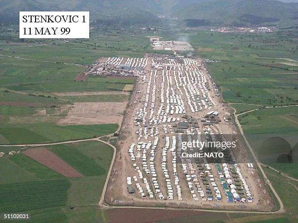
[[[23,154],[4,156],[0,158],[0,190],[5,195],[1,196],[0,210],[25,211],[34,223],[45,219],[48,223],[107,222],[108,216],[98,210],[97,203],[111,165],[112,148],[98,141],[46,148],[84,176],[67,179]]]

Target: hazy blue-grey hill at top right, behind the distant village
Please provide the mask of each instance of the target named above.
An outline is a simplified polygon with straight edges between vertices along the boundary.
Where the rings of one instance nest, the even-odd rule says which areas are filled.
[[[205,19],[211,24],[258,25],[295,17],[298,3],[274,0],[201,0],[173,11],[173,17]]]

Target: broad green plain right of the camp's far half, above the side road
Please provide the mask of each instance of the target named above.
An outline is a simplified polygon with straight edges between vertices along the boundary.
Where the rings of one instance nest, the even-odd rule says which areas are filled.
[[[226,102],[297,103],[297,39],[287,31],[272,34],[184,34],[206,63]],[[175,38],[179,38],[179,34]],[[295,63],[286,63],[296,61]],[[240,92],[240,97],[236,96]]]

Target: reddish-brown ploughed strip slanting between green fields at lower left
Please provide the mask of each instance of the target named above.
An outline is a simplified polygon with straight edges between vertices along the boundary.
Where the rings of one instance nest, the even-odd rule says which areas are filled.
[[[47,150],[46,148],[39,147],[29,149],[23,152],[23,154],[36,160],[38,163],[58,172],[66,177],[82,177],[83,175],[77,172],[73,167],[68,165],[64,160],[59,158],[56,154]]]

